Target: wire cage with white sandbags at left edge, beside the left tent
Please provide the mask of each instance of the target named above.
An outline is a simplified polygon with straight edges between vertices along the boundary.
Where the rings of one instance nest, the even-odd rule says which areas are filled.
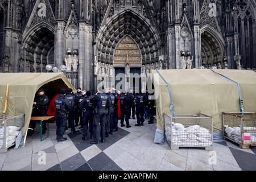
[[[24,126],[24,114],[3,119],[0,117],[0,152],[14,146],[15,139]]]

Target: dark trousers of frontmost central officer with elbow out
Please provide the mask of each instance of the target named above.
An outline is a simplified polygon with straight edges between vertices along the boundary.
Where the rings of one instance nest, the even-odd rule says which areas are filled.
[[[98,137],[97,137],[98,123],[101,123],[101,140],[105,140],[106,109],[98,109],[97,113],[94,113],[94,119],[93,119],[94,142],[98,142]]]

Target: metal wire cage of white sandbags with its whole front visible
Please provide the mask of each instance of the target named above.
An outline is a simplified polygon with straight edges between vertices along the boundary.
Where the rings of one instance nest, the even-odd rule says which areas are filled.
[[[171,150],[180,147],[203,147],[212,150],[213,119],[208,115],[164,115],[166,140]]]

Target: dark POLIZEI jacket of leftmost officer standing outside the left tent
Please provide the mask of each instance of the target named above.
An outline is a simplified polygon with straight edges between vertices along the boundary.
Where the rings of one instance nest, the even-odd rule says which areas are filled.
[[[67,114],[69,110],[72,109],[71,105],[69,105],[69,101],[65,98],[63,94],[60,94],[54,101],[56,106],[56,114]]]

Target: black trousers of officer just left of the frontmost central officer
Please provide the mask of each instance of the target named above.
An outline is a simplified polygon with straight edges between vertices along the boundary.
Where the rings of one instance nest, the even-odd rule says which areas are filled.
[[[84,132],[82,135],[84,137],[87,137],[88,134],[88,125],[89,125],[89,131],[90,134],[93,134],[93,111],[92,110],[86,110],[82,117],[82,125],[84,126]]]

